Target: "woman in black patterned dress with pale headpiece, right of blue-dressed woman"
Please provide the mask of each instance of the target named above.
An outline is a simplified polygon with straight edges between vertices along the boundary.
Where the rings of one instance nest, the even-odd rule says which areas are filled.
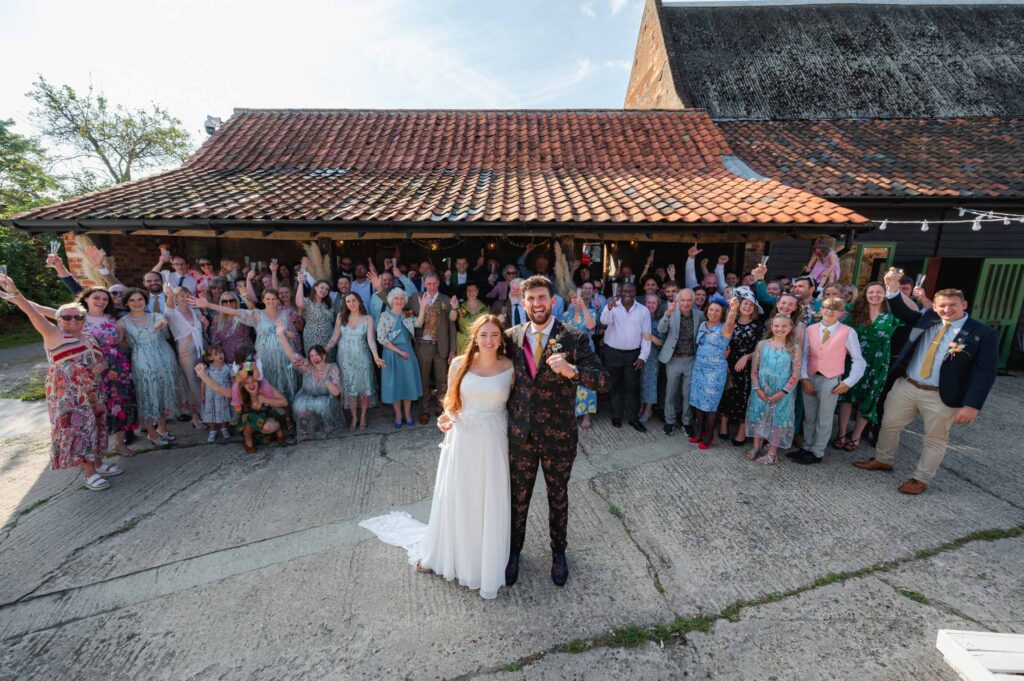
[[[746,405],[751,397],[751,359],[754,358],[754,348],[764,336],[764,325],[759,314],[764,312],[754,297],[754,292],[745,286],[735,289],[739,298],[739,310],[736,325],[729,341],[729,378],[726,381],[725,392],[719,407],[722,425],[719,434],[729,437],[729,423],[736,424],[736,436],[732,439],[735,446],[741,446],[746,441]]]

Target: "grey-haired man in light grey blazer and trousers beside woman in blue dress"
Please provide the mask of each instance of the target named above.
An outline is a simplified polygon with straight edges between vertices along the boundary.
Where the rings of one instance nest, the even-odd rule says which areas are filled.
[[[668,334],[657,355],[665,365],[665,434],[676,427],[677,414],[682,414],[683,429],[693,436],[690,425],[690,378],[693,357],[697,351],[697,329],[705,321],[703,312],[693,306],[693,291],[680,289],[657,323],[658,333]],[[682,408],[676,411],[676,399],[682,395]]]

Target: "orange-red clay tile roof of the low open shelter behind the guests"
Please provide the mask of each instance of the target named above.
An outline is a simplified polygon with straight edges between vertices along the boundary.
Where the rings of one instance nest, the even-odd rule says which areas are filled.
[[[15,219],[865,221],[730,154],[701,111],[239,110],[181,168]]]

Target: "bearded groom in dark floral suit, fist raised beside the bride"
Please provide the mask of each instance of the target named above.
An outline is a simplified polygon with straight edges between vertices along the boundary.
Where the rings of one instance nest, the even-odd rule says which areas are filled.
[[[511,587],[519,578],[519,552],[540,464],[548,488],[551,581],[560,587],[569,577],[565,534],[568,482],[577,453],[577,384],[604,392],[608,372],[583,332],[552,316],[555,290],[549,279],[530,276],[521,289],[529,322],[505,332],[515,365],[515,386],[508,402],[512,541],[505,584]]]

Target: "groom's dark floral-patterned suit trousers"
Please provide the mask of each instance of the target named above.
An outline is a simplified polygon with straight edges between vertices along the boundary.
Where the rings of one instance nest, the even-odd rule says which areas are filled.
[[[575,450],[559,451],[551,442],[536,442],[532,435],[521,445],[509,446],[509,478],[512,486],[512,553],[522,551],[526,538],[526,516],[529,500],[537,483],[537,469],[544,470],[544,483],[548,488],[548,525],[551,533],[551,551],[564,553],[569,522],[569,476]]]

